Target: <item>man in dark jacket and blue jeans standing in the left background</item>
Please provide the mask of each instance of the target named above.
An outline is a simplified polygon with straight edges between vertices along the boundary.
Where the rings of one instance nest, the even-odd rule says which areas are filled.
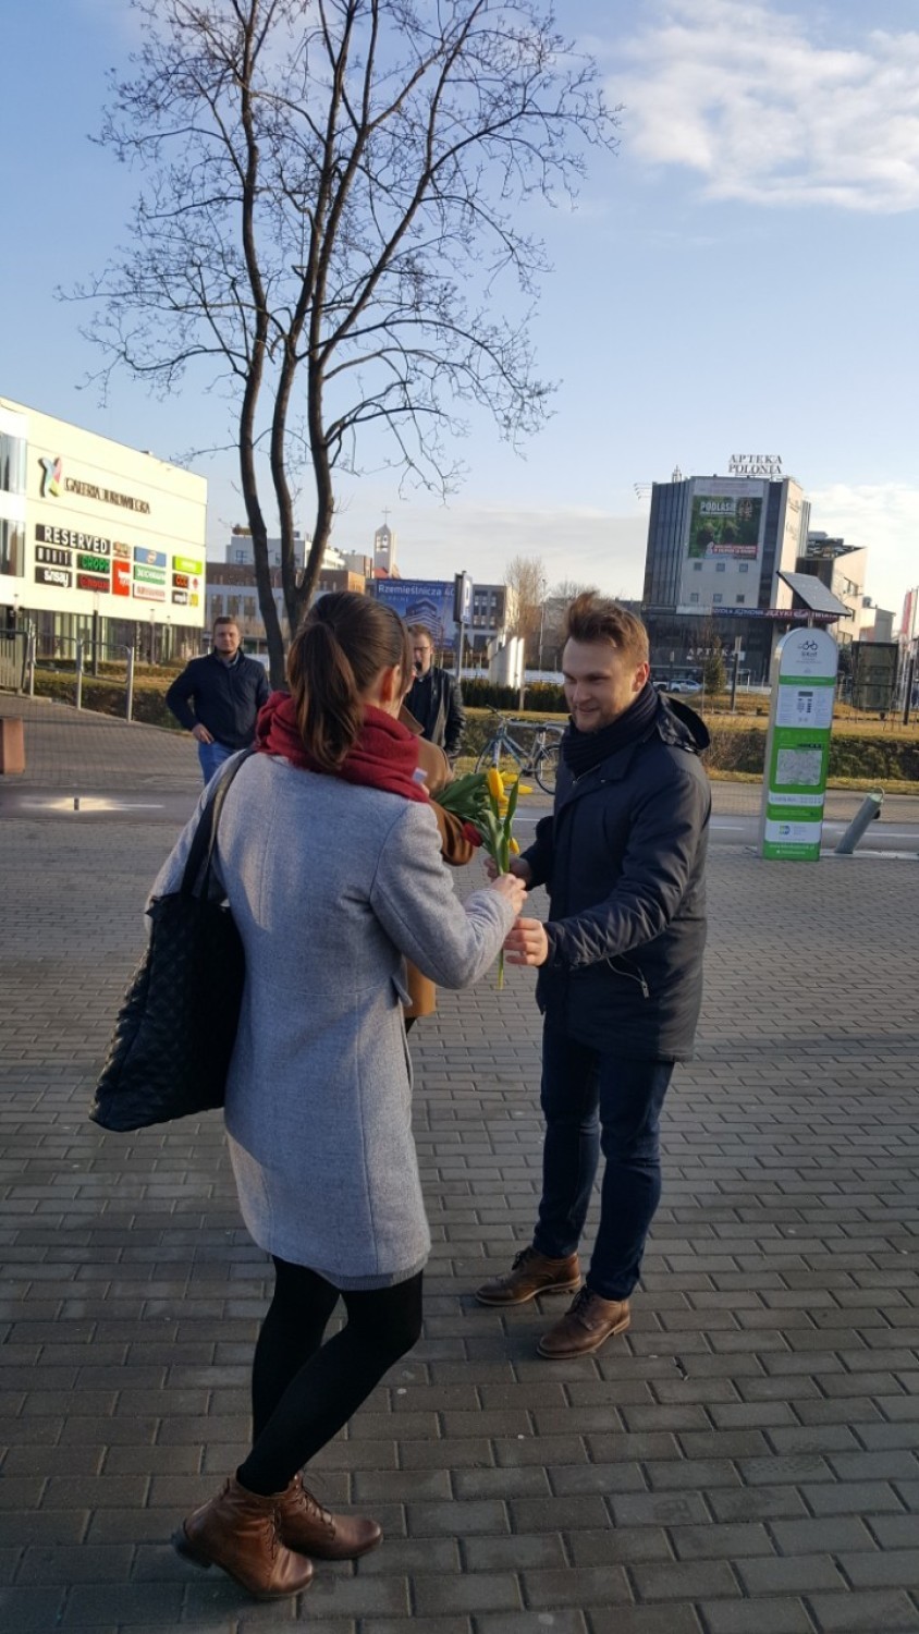
[[[204,781],[217,766],[248,748],[258,711],[271,694],[264,667],[240,652],[233,618],[214,619],[214,650],[186,663],[166,693],[166,708],[198,740]],[[189,709],[194,704],[194,712]]]

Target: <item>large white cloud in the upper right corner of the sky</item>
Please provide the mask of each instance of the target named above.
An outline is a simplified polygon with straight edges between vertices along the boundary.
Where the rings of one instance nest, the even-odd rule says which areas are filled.
[[[762,0],[655,0],[610,82],[624,149],[697,172],[712,199],[919,206],[919,33],[828,46]]]

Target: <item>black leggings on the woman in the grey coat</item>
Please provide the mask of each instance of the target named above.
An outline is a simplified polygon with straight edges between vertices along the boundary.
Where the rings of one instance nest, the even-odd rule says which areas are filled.
[[[291,1484],[421,1333],[421,1271],[395,1288],[343,1291],[348,1324],[328,1345],[338,1288],[305,1265],[274,1260],[274,1271],[251,1369],[253,1449],[237,1471],[263,1497]]]

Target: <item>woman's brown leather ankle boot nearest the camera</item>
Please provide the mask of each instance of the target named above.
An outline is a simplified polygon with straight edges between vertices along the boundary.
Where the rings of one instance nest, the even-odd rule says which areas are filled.
[[[277,1495],[261,1498],[238,1480],[194,1510],[173,1546],[196,1565],[219,1565],[256,1600],[282,1600],[309,1588],[313,1569],[277,1536]]]

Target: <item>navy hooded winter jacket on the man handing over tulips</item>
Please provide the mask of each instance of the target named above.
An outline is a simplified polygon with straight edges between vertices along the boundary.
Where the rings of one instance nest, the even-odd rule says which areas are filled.
[[[661,698],[637,742],[579,778],[562,761],[555,812],[524,851],[532,884],[548,889],[539,1007],[593,1049],[692,1054],[712,809],[699,761],[707,743],[699,716]]]

